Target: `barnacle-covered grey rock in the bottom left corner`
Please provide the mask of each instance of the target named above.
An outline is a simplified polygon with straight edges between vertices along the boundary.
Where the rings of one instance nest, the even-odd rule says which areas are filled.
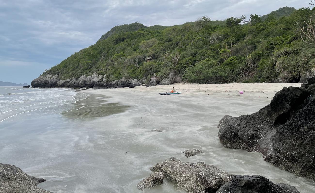
[[[25,174],[20,168],[0,163],[0,192],[3,193],[49,193],[36,187],[44,182],[43,178],[35,178]]]

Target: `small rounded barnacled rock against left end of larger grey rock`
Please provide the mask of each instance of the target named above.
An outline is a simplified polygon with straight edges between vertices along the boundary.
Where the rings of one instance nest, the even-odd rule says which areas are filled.
[[[147,176],[145,179],[141,180],[137,184],[138,190],[145,190],[153,188],[157,185],[163,184],[164,175],[162,172],[154,172]]]

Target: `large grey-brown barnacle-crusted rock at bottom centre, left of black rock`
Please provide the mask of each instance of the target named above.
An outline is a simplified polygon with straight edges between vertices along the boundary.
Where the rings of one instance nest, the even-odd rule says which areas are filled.
[[[150,169],[153,172],[162,172],[177,188],[189,193],[212,193],[235,178],[235,175],[230,175],[214,165],[181,162],[174,157],[157,163]]]

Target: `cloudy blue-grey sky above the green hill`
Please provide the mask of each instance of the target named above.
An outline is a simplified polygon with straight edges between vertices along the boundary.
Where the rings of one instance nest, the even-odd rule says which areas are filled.
[[[28,83],[117,24],[265,15],[310,0],[0,0],[0,80]]]

